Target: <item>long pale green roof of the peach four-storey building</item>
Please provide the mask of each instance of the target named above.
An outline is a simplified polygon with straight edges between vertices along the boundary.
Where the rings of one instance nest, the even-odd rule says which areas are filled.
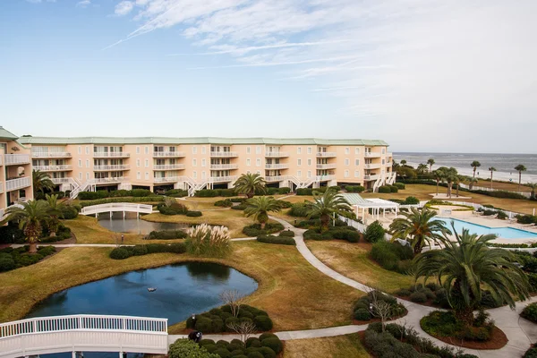
[[[5,131],[7,132],[7,131]],[[318,138],[219,138],[219,137],[21,137],[24,144],[311,144],[326,146],[367,145],[388,146],[379,140],[327,140]]]

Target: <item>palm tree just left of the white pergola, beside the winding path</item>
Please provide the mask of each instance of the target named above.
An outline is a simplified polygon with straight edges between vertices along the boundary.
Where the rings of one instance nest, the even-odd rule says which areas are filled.
[[[306,204],[308,218],[312,216],[320,217],[320,231],[328,230],[330,215],[352,213],[351,204],[337,192],[328,190],[322,194],[313,192],[313,202]]]

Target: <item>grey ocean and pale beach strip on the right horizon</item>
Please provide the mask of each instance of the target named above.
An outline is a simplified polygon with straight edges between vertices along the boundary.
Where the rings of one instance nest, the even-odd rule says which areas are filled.
[[[490,154],[490,153],[413,153],[395,152],[394,159],[397,162],[405,159],[410,166],[417,166],[420,163],[427,164],[427,159],[433,158],[435,164],[432,169],[439,166],[453,166],[462,175],[472,175],[473,167],[470,164],[473,160],[481,163],[477,168],[476,175],[480,178],[490,178],[490,166],[494,166],[493,178],[512,181],[518,183],[518,172],[515,166],[522,164],[527,170],[522,172],[522,183],[537,182],[537,154]]]

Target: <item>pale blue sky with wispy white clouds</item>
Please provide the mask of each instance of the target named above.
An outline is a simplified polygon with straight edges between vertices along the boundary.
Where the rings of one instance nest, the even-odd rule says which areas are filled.
[[[537,1],[2,0],[0,125],[536,153]]]

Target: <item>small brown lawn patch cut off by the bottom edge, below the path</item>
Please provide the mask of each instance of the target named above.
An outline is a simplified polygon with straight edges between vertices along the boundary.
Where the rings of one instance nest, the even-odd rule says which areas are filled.
[[[357,333],[346,336],[286,341],[284,358],[369,358]]]

